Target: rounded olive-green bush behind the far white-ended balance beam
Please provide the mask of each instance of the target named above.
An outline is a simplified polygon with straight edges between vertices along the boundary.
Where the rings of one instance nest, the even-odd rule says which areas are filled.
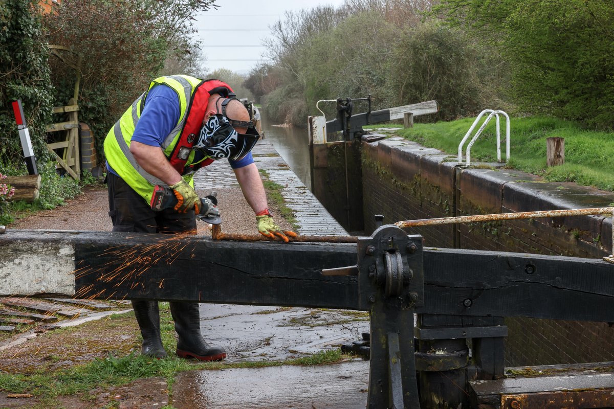
[[[499,109],[501,102],[489,93],[489,80],[496,85],[501,78],[494,69],[486,69],[488,62],[461,29],[420,23],[399,36],[388,66],[387,88],[394,91],[398,105],[438,101],[440,111],[429,120],[453,120],[484,107]]]

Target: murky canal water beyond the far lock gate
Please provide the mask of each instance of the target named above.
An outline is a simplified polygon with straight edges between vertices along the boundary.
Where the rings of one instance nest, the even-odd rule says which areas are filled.
[[[309,166],[309,136],[307,128],[276,126],[277,124],[262,113],[262,129],[265,140],[271,143],[279,155],[301,182],[311,190],[311,169]],[[306,121],[306,120],[305,120]]]

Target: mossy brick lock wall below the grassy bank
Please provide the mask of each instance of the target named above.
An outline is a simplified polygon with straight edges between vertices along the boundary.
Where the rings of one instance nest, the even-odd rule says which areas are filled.
[[[441,151],[400,139],[363,142],[365,233],[400,220],[607,207],[614,194],[572,183],[544,183],[508,169],[463,169]],[[545,218],[408,229],[427,247],[601,258],[611,253],[612,223],[604,216]],[[507,318],[506,364],[548,365],[614,361],[607,323]]]

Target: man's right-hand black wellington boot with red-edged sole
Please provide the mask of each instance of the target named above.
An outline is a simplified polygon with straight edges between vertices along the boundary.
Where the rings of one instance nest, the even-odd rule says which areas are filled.
[[[197,302],[170,302],[171,314],[175,321],[177,356],[195,358],[200,361],[219,361],[226,357],[223,348],[204,342],[200,333],[200,310]]]

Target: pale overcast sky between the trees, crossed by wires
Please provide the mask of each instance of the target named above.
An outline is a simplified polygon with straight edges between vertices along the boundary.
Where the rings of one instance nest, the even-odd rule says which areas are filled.
[[[207,56],[209,71],[228,68],[247,74],[259,61],[265,61],[262,40],[271,37],[269,26],[282,20],[286,10],[297,11],[330,5],[343,0],[217,0],[217,10],[196,18],[196,37]]]

